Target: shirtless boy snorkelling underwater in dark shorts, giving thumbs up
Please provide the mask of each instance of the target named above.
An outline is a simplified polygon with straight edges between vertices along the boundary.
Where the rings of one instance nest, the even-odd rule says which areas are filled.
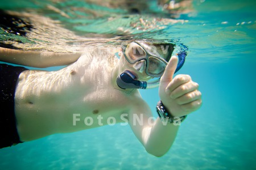
[[[3,137],[6,141],[1,141],[5,145],[1,147],[6,147],[6,143],[10,146],[55,133],[108,125],[111,118],[114,123],[127,122],[148,153],[164,155],[179,128],[175,120],[183,121],[187,114],[201,106],[198,84],[189,75],[173,78],[178,59],[171,57],[172,51],[172,44],[163,46],[134,41],[119,53],[118,61],[105,51],[99,55],[96,49],[81,57],[74,54],[61,59],[57,54],[40,56],[36,52],[13,58],[10,56],[15,56],[16,50],[1,48],[1,61],[19,64],[30,57],[27,65],[40,67],[36,59],[39,57],[44,61],[43,67],[70,63],[57,71],[23,70],[20,67],[21,70],[13,71],[15,90],[9,97],[13,96],[15,104],[13,112],[5,113],[13,115],[13,121],[7,132],[1,132],[6,135]],[[122,79],[123,75],[128,79]],[[159,77],[161,101],[157,108],[160,118],[152,124],[150,107],[131,85]],[[1,124],[7,125],[7,122]]]

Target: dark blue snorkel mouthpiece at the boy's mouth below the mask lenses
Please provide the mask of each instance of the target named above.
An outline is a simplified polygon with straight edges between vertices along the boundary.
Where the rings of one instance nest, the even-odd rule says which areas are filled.
[[[135,80],[134,76],[130,71],[125,71],[117,77],[117,85],[122,89],[126,88],[147,88],[147,82]]]

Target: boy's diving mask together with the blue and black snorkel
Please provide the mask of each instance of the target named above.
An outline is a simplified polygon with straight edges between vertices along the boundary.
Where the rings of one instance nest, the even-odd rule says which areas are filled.
[[[150,46],[146,44],[139,44],[139,42],[136,41],[131,42],[127,46],[125,52],[123,52],[123,56],[125,56],[129,63],[135,63],[141,61],[142,59],[146,60],[146,74],[154,77],[155,79],[150,82],[139,81],[137,80],[136,76],[133,75],[133,73],[126,70],[117,77],[116,82],[120,88],[147,89],[159,86],[160,76],[163,75],[167,62],[160,56],[158,52],[152,53],[150,49]],[[177,57],[179,58],[179,62],[177,63],[175,73],[180,70],[185,62],[185,57],[187,56],[185,49],[187,48],[181,48],[181,50],[176,53]],[[135,52],[133,53],[134,50]],[[138,50],[138,52],[136,52],[136,50]]]

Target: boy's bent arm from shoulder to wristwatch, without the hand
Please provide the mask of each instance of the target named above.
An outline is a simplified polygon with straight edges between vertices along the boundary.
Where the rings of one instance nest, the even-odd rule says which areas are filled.
[[[179,126],[162,122],[156,118],[153,122],[150,107],[138,103],[128,114],[128,121],[136,137],[149,154],[163,156],[174,143]]]

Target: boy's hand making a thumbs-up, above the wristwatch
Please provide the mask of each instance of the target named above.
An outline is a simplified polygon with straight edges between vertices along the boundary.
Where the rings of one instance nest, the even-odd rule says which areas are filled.
[[[176,75],[178,58],[172,56],[162,78],[160,79],[159,96],[164,107],[172,116],[181,117],[201,107],[199,85],[189,75]]]

